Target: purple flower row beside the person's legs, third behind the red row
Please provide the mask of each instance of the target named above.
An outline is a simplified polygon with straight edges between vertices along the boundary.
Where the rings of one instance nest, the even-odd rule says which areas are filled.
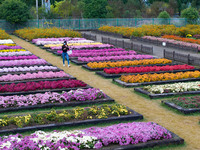
[[[88,52],[88,53],[73,53],[70,57],[94,57],[94,56],[118,56],[118,55],[134,55],[136,54],[135,51],[117,51],[117,52]]]

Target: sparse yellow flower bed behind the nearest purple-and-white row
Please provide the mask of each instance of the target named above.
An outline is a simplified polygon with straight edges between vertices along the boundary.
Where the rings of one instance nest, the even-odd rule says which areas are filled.
[[[40,112],[26,114],[23,116],[3,116],[0,118],[0,129],[15,129],[26,126],[36,126],[43,124],[76,122],[91,119],[107,119],[109,117],[120,117],[130,115],[132,112],[124,105],[102,105],[101,107],[90,106],[86,108],[75,107],[62,111],[51,110],[50,112]]]

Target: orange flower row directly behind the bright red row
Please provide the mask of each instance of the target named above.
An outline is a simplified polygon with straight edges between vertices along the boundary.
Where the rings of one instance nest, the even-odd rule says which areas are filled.
[[[90,62],[87,64],[90,68],[108,68],[108,67],[122,67],[122,66],[134,66],[134,65],[150,65],[150,64],[168,64],[172,63],[171,60],[165,58],[158,59],[143,59],[133,61],[117,61],[117,62]]]

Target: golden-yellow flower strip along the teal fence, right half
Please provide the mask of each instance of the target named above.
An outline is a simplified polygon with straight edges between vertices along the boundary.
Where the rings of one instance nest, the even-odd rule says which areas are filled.
[[[174,25],[142,25],[141,27],[102,26],[99,30],[118,33],[128,37],[161,36],[165,34],[186,36],[187,34],[200,34],[200,25],[187,25],[185,27],[176,27]]]

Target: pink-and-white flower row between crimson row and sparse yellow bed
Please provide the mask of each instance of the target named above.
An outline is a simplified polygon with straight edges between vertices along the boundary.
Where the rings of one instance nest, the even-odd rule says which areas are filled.
[[[22,107],[49,103],[65,103],[69,101],[87,101],[105,98],[105,94],[95,88],[77,89],[62,94],[46,92],[44,94],[0,96],[0,108]]]

